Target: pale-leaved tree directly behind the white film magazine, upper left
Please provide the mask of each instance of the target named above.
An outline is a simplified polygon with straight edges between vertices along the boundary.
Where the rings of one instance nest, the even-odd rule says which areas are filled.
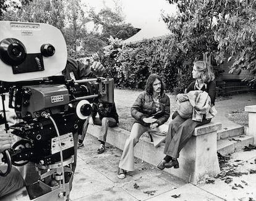
[[[6,10],[4,20],[48,23],[62,31],[66,39],[69,55],[79,57],[82,39],[87,35],[86,22],[80,0],[23,0],[21,6]]]

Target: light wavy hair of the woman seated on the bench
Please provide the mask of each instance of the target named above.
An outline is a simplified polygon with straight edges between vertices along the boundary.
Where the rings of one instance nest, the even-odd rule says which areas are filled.
[[[198,71],[197,80],[201,83],[209,83],[210,81],[215,79],[215,75],[213,73],[211,65],[208,65],[206,62],[198,61],[194,62],[194,66]]]

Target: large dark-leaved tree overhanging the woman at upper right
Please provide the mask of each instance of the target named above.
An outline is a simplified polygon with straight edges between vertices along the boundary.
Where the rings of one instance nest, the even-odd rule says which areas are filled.
[[[209,52],[217,65],[233,57],[230,72],[248,69],[254,75],[251,81],[256,81],[255,1],[168,1],[177,5],[179,13],[177,17],[163,18],[174,33],[182,54],[194,60],[199,54]]]

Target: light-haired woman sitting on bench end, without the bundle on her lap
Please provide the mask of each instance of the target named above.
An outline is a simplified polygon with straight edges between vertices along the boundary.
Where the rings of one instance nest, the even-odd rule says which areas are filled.
[[[198,61],[194,62],[192,76],[195,79],[189,84],[187,91],[205,91],[210,96],[211,106],[215,105],[216,83],[213,81],[215,76],[212,72],[211,66],[206,62]],[[189,97],[187,94],[177,94],[177,101],[187,101]],[[163,170],[164,168],[179,168],[179,152],[189,141],[195,127],[209,123],[211,119],[205,118],[203,115],[202,121],[192,120],[190,118],[182,118],[179,114],[171,121],[168,128],[168,134],[166,137],[166,144],[164,147],[164,154],[166,157],[158,164],[158,168]]]

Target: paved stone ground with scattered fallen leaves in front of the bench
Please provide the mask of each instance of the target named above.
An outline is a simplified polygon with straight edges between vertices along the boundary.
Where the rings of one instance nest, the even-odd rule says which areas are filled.
[[[256,200],[256,150],[236,152],[223,163],[223,171],[218,178],[205,178],[194,186],[138,158],[135,158],[136,171],[128,173],[125,179],[118,179],[121,150],[107,144],[106,152],[97,154],[99,144],[95,137],[88,134],[84,142],[85,147],[78,153],[70,193],[72,201]]]

